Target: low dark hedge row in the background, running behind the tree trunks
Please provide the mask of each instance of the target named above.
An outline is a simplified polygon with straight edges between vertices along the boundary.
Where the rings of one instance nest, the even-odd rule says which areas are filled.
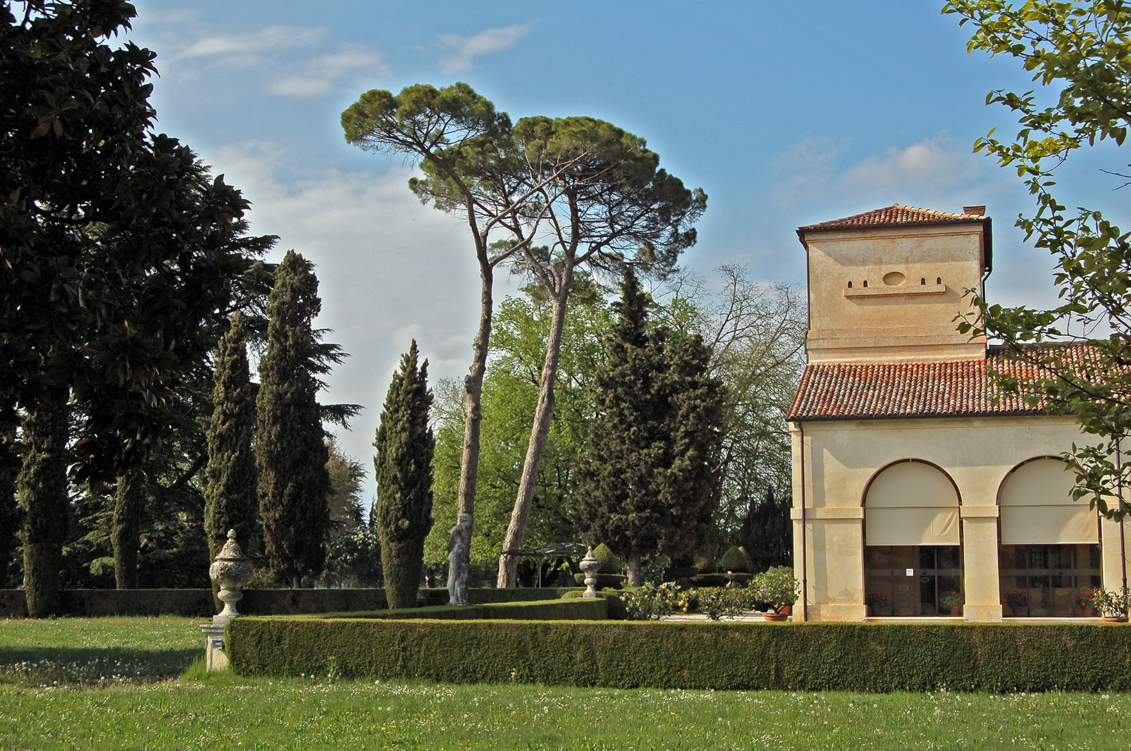
[[[490,602],[558,600],[570,587],[475,588],[468,591],[473,605]],[[422,605],[444,605],[447,590],[421,590]],[[248,590],[236,603],[242,613],[290,615],[336,611],[368,611],[387,608],[385,590]],[[59,615],[184,615],[216,613],[211,590],[61,590]],[[23,590],[0,590],[0,618],[27,618]]]

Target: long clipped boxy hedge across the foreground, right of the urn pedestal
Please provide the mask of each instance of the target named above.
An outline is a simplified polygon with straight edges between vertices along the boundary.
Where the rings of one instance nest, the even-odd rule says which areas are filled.
[[[1131,627],[242,618],[242,675],[849,691],[1126,691]]]

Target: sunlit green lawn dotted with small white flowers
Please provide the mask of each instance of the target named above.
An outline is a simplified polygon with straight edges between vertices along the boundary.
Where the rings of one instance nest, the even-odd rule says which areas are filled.
[[[199,622],[0,620],[0,674],[9,676],[0,748],[1031,750],[1125,749],[1131,737],[1129,693],[441,685],[244,679],[199,666],[156,680],[192,664]],[[27,656],[54,667],[14,676]]]

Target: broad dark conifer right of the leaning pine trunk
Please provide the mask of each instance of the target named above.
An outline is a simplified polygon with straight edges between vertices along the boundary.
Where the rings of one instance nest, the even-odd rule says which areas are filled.
[[[710,349],[698,337],[668,347],[649,326],[650,297],[631,269],[621,289],[575,516],[593,543],[624,556],[638,586],[644,554],[685,554],[710,523],[723,385],[707,376]]]

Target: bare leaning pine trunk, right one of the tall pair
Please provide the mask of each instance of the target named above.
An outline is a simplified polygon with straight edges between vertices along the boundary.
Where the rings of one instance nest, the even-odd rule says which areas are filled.
[[[573,267],[568,264],[562,273],[558,295],[552,295],[554,302],[553,317],[550,323],[550,339],[546,342],[546,360],[542,366],[542,379],[538,383],[538,407],[534,411],[534,425],[530,427],[530,443],[526,448],[526,461],[523,463],[523,479],[518,483],[518,496],[510,514],[510,525],[503,538],[502,556],[499,557],[498,587],[516,586],[518,575],[518,557],[508,556],[510,550],[523,547],[526,536],[526,523],[530,516],[530,503],[534,500],[534,486],[538,480],[538,465],[546,448],[550,435],[550,422],[554,417],[554,379],[558,377],[558,356],[562,348],[562,331],[566,328],[566,305],[569,300],[570,282],[573,278]]]

